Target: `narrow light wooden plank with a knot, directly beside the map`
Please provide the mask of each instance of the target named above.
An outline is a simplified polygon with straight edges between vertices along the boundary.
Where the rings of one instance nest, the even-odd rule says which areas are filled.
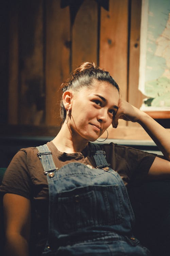
[[[141,0],[131,1],[131,22],[130,22],[130,46],[129,46],[129,81],[128,81],[128,101],[140,108],[144,95],[138,89],[139,82],[139,41],[140,41],[140,20],[141,20]],[[128,126],[139,127],[139,124],[129,122]]]

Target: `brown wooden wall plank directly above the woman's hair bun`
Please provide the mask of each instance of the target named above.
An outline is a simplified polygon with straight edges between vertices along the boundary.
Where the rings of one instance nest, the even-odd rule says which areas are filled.
[[[97,64],[98,5],[94,0],[84,0],[72,28],[72,70],[84,61]]]

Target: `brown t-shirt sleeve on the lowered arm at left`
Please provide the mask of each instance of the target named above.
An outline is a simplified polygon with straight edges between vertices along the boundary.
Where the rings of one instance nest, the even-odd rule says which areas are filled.
[[[0,192],[31,198],[31,179],[27,165],[27,152],[24,149],[18,151],[6,169]]]

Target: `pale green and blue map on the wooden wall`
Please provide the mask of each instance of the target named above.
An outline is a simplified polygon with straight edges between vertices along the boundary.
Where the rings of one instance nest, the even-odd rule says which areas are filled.
[[[142,110],[170,111],[170,0],[142,0],[139,90]]]

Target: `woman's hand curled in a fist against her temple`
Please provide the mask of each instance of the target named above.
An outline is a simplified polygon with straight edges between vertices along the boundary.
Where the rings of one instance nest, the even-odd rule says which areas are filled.
[[[118,104],[118,111],[113,119],[112,126],[117,128],[118,119],[123,119],[125,121],[138,122],[142,111],[132,106],[125,100],[120,99]]]

